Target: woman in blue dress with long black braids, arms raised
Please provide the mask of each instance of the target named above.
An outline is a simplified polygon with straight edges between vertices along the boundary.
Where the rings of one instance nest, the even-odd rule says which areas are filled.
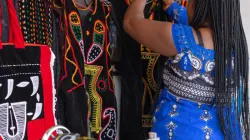
[[[248,50],[239,0],[164,0],[170,22],[144,18],[134,0],[125,31],[168,57],[152,131],[160,139],[249,139]],[[190,23],[191,26],[188,26]]]

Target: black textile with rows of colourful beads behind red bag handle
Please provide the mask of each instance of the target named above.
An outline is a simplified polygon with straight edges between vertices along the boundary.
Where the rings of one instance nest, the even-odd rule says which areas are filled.
[[[17,3],[24,41],[52,47],[52,0],[17,0]]]

